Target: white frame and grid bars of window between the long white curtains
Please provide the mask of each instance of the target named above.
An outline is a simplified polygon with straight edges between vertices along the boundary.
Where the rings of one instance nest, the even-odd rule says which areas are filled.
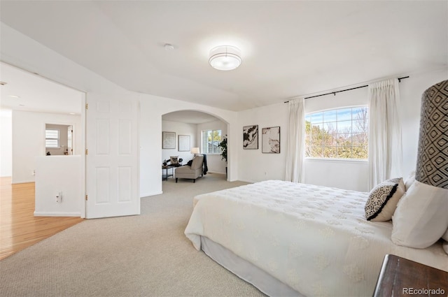
[[[360,108],[363,108],[363,109],[365,109],[367,111],[367,117],[365,119],[365,122],[363,122],[363,124],[364,124],[364,127],[363,127],[364,133],[367,133],[367,135],[366,135],[367,136],[367,143],[365,143],[365,150],[367,151],[367,157],[366,158],[356,158],[356,157],[353,158],[353,147],[362,147],[363,146],[363,145],[353,145],[353,136],[355,134],[358,134],[355,131],[353,131],[353,124],[354,124],[354,122],[356,122],[356,118],[353,118],[353,110],[360,109]],[[338,119],[338,117],[337,117],[338,111],[342,112],[343,110],[351,110],[351,115],[350,115],[350,119],[349,120],[348,119],[341,119],[341,120]],[[365,106],[365,105],[363,105],[363,106],[346,106],[344,108],[332,108],[332,109],[329,109],[329,110],[318,110],[318,111],[315,111],[313,113],[307,113],[305,115],[305,122],[304,122],[304,124],[307,125],[307,121],[309,119],[311,119],[311,117],[316,116],[316,115],[318,115],[320,113],[323,114],[322,122],[311,121],[311,126],[313,126],[313,124],[316,124],[317,126],[323,127],[325,129],[325,127],[328,128],[328,126],[329,126],[328,124],[336,124],[335,131],[333,131],[333,133],[335,133],[337,136],[339,136],[339,134],[348,133],[349,134],[349,138],[351,138],[351,140],[350,140],[351,141],[351,145],[350,146],[352,148],[352,150],[351,150],[351,157],[350,158],[339,157],[339,154],[337,154],[336,157],[325,157],[323,155],[321,155],[319,157],[318,156],[309,156],[309,155],[307,155],[307,150],[308,150],[309,147],[308,147],[307,140],[305,140],[305,143],[304,143],[304,146],[305,146],[304,147],[304,149],[305,149],[305,159],[320,159],[320,160],[324,160],[324,161],[325,160],[327,160],[327,161],[328,160],[331,160],[331,161],[368,161],[368,153],[369,153],[368,152],[368,133],[369,133],[369,131],[368,131],[368,117],[369,117],[368,106]],[[327,113],[327,114],[336,113],[336,119],[331,119],[331,120],[325,121],[324,113]],[[356,114],[354,114],[354,115],[356,115]],[[349,132],[345,132],[345,133],[339,133],[340,130],[339,130],[338,123],[339,122],[341,122],[341,123],[342,122],[349,122],[349,121],[351,122],[350,131]],[[307,139],[308,136],[309,135],[308,135],[308,133],[306,131],[306,126],[305,126],[305,139]],[[332,138],[332,139],[333,140],[337,140],[337,138]],[[339,148],[339,147],[342,147],[342,146],[339,146],[339,143],[336,142],[336,145],[335,144],[333,144],[333,145],[325,145],[324,143],[322,143],[321,147],[322,147],[322,151],[324,151],[324,147],[338,147]]]

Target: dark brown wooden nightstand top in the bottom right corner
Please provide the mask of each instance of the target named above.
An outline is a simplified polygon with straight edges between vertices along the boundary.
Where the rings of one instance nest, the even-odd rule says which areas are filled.
[[[447,296],[447,294],[447,272],[387,254],[373,296]]]

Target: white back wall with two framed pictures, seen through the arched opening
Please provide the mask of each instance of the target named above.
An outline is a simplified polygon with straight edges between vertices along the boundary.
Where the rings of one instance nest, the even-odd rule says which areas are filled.
[[[176,133],[176,148],[162,149],[162,159],[160,160],[160,165],[162,165],[163,160],[169,159],[169,157],[172,156],[179,156],[179,158],[183,159],[183,165],[187,164],[189,160],[193,159],[193,154],[190,153],[190,149],[191,147],[195,146],[197,139],[196,124],[162,121],[162,131]],[[190,136],[190,149],[188,149],[188,152],[179,152],[179,135]],[[160,132],[160,137],[162,137],[162,132]]]

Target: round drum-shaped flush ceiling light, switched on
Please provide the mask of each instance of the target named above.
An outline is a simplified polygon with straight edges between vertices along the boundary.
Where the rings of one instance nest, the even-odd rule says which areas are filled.
[[[241,52],[235,46],[221,45],[210,51],[210,65],[218,70],[228,71],[241,65]]]

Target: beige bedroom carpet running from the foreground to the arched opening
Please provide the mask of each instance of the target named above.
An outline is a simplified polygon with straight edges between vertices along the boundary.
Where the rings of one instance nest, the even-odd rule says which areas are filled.
[[[164,181],[139,216],[86,220],[1,260],[0,296],[264,296],[183,234],[195,195],[241,184]]]

